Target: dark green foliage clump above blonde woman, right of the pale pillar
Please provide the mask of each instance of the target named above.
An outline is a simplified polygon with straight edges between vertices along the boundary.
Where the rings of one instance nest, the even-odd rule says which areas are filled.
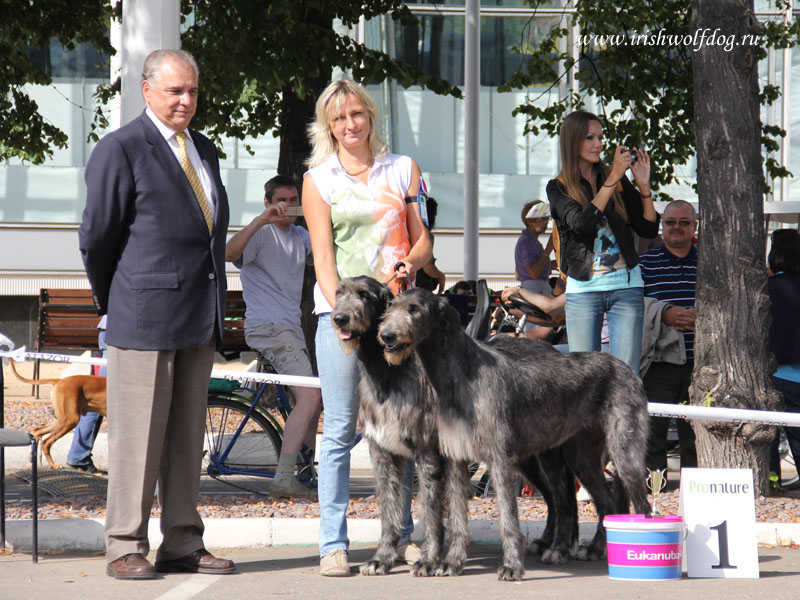
[[[204,73],[195,123],[212,138],[238,139],[281,131],[281,97],[316,100],[334,68],[355,80],[393,79],[440,94],[460,96],[447,81],[356,43],[334,30],[381,15],[409,25],[416,18],[400,0],[203,0],[182,2],[188,28],[182,46]],[[292,135],[304,135],[293,131]]]

